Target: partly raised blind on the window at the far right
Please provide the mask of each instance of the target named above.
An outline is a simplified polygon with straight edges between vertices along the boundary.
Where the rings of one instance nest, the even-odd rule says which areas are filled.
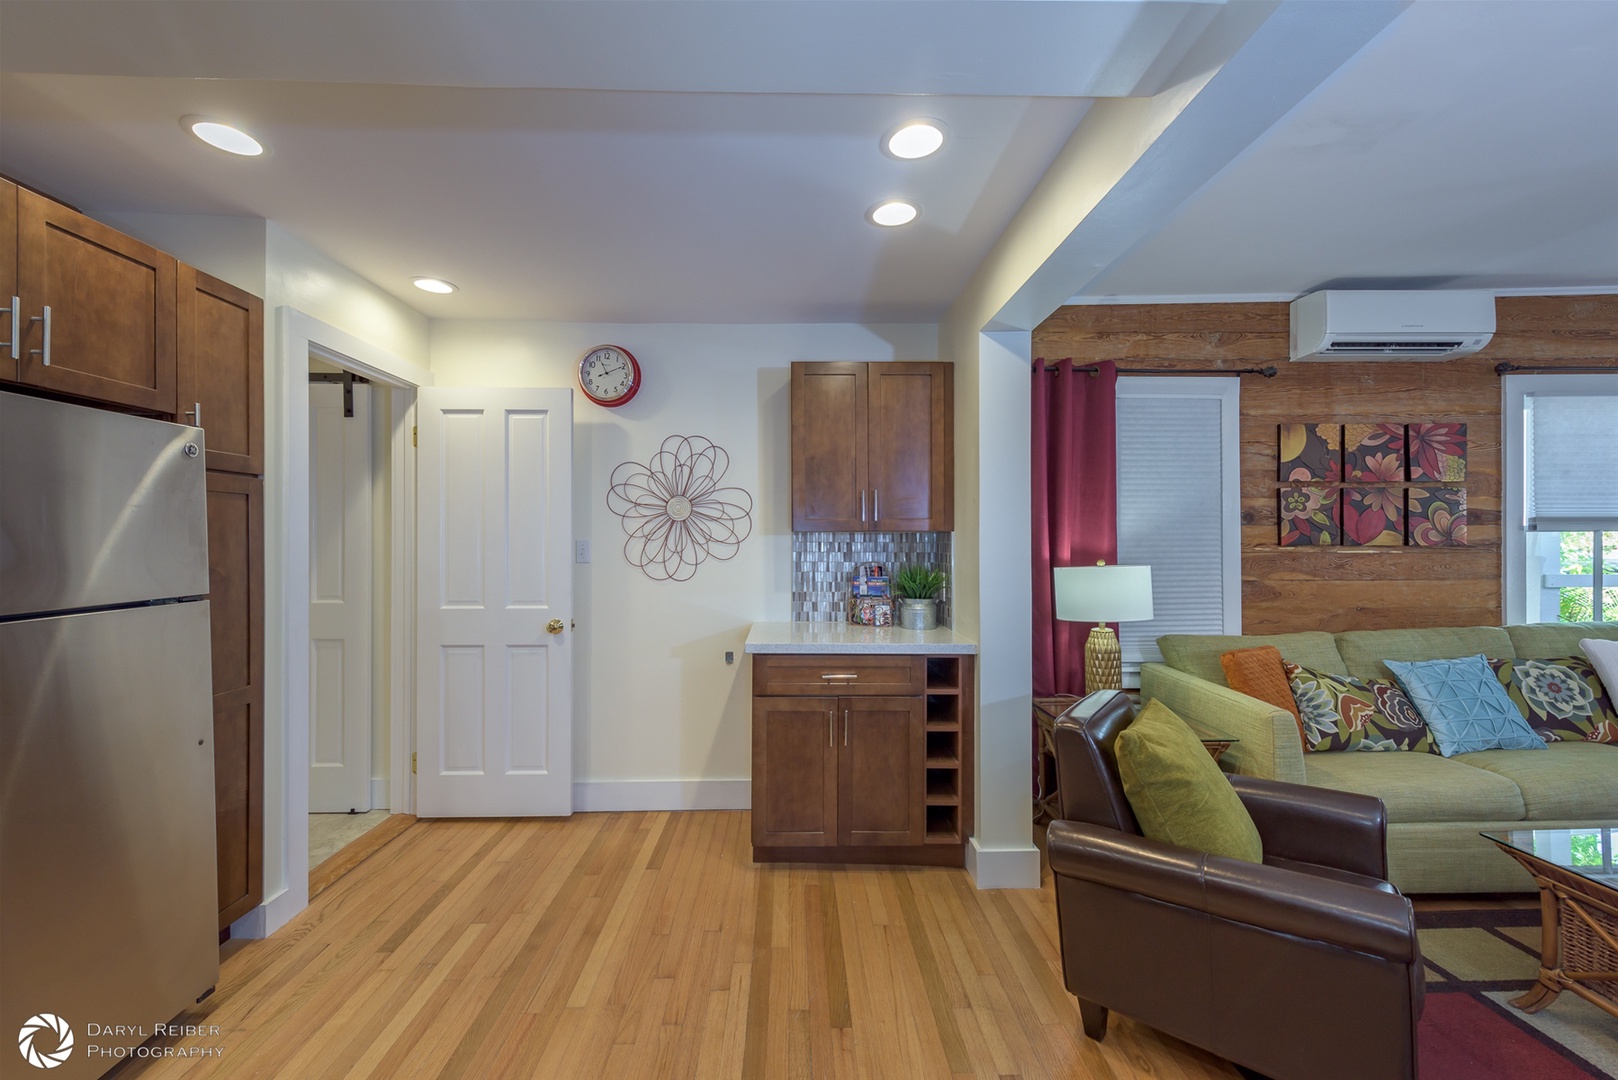
[[[1618,387],[1529,393],[1523,406],[1527,529],[1618,529]]]

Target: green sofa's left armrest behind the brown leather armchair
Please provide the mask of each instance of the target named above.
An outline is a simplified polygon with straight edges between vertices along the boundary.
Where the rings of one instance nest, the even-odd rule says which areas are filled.
[[[1286,709],[1155,662],[1141,664],[1141,699],[1147,698],[1167,704],[1201,735],[1236,738],[1222,758],[1236,772],[1304,782],[1298,721]]]

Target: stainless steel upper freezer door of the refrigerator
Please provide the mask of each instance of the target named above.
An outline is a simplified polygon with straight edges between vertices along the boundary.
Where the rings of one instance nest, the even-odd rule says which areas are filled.
[[[207,593],[202,431],[0,393],[0,619]]]

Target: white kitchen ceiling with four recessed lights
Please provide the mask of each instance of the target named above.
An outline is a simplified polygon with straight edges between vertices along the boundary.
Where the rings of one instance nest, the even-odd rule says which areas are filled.
[[[932,322],[1091,100],[1207,63],[1226,10],[6,0],[0,172],[91,212],[270,219],[435,317]],[[945,149],[883,155],[913,117]],[[921,220],[869,225],[892,196]]]

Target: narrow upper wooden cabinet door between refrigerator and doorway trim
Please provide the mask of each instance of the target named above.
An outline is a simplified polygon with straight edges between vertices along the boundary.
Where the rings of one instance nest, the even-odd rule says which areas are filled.
[[[181,264],[180,421],[205,432],[207,466],[264,471],[264,301]]]

